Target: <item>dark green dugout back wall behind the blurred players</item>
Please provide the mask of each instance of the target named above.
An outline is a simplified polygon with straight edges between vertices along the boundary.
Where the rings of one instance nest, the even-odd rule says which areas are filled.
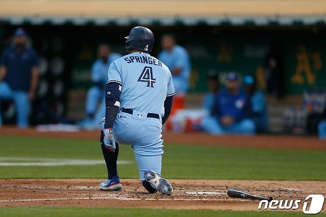
[[[69,62],[70,88],[86,89],[90,83],[90,68],[101,42],[111,45],[114,52],[127,54],[124,36],[133,26],[24,26],[33,44],[40,49],[44,41],[54,37],[64,40]],[[16,26],[0,27],[1,46],[8,42]],[[309,87],[326,87],[326,26],[149,26],[156,39],[153,55],[160,51],[164,33],[177,36],[191,56],[193,66],[190,92],[206,91],[209,70],[221,74],[236,71],[258,75],[264,87],[265,55],[271,45],[278,45],[284,62],[285,93],[301,94]]]

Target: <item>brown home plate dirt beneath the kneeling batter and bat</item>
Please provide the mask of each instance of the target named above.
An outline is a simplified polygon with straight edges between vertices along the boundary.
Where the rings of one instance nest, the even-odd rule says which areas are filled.
[[[0,207],[78,206],[165,209],[257,210],[258,201],[235,199],[229,188],[272,196],[277,200],[303,200],[326,195],[326,181],[170,180],[172,197],[148,194],[139,180],[121,180],[119,192],[100,191],[100,179],[0,179]],[[299,209],[298,211],[301,211]],[[325,212],[326,208],[324,206]]]

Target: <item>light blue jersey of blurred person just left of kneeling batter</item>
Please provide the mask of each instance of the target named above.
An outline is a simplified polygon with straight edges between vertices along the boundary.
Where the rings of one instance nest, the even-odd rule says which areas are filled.
[[[91,80],[94,83],[103,82],[106,84],[108,81],[108,69],[110,64],[120,58],[122,55],[117,53],[111,53],[108,56],[108,61],[104,62],[102,59],[97,59],[94,64],[92,65],[92,74]]]

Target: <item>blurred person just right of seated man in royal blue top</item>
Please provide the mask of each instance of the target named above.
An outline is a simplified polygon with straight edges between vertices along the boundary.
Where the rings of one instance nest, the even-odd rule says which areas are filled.
[[[243,77],[244,88],[250,97],[252,118],[255,122],[257,133],[268,132],[268,115],[265,95],[257,90],[257,82],[254,76]]]

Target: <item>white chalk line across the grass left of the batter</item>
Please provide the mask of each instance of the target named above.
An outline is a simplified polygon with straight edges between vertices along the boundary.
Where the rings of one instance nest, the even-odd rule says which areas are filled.
[[[132,164],[133,161],[118,161],[117,164]],[[65,165],[99,165],[104,160],[60,159],[60,158],[17,158],[0,157],[0,166],[65,166]]]

